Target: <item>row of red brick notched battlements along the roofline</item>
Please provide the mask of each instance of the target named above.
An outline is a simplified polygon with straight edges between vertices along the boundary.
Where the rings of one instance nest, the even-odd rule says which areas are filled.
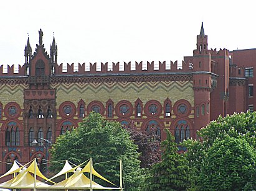
[[[107,63],[83,63],[83,64],[56,64],[54,75],[75,74],[131,74],[131,73],[169,73],[169,72],[192,72],[190,63],[182,61],[135,61],[135,62],[107,62]],[[1,65],[1,76],[24,76],[25,67],[16,65]]]

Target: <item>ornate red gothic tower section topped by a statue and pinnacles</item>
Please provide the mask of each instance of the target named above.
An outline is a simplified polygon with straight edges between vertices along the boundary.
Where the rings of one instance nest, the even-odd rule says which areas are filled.
[[[24,143],[27,146],[35,137],[47,138],[50,141],[54,141],[55,137],[55,89],[50,87],[51,69],[54,64],[45,51],[42,37],[43,32],[40,29],[39,45],[36,45],[36,51],[26,63],[29,66],[29,88],[24,90]],[[29,40],[25,55],[31,54],[31,48],[28,47]],[[57,52],[57,47],[55,49]]]

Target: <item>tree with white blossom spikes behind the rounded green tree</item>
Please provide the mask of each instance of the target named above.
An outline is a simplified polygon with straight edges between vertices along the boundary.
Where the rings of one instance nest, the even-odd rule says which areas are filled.
[[[245,140],[256,148],[256,117],[255,112],[234,113],[227,117],[219,117],[212,121],[207,127],[202,128],[197,134],[200,140],[186,140],[182,144],[187,147],[186,159],[191,167],[191,178],[194,185],[199,185],[197,182],[202,167],[209,158],[209,150],[216,141],[225,140],[227,136],[230,138],[240,138]],[[227,146],[227,145],[225,145]],[[229,149],[229,148],[226,148]],[[220,158],[216,158],[220,160]],[[215,170],[211,173],[216,172]],[[208,175],[209,177],[209,175]]]

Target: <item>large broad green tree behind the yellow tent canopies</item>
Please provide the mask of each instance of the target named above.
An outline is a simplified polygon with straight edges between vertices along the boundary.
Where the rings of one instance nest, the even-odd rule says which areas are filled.
[[[50,152],[53,161],[68,159],[80,164],[93,158],[93,162],[103,162],[95,164],[95,170],[116,185],[120,184],[119,159],[122,159],[125,190],[139,190],[140,154],[136,149],[136,144],[130,140],[129,133],[121,128],[120,123],[103,120],[100,114],[92,112],[78,128],[59,136]],[[53,163],[51,168],[60,170],[62,164]]]

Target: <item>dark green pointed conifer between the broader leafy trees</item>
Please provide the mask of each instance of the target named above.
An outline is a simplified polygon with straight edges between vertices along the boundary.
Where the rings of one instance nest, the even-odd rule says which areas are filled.
[[[178,154],[174,136],[168,129],[164,131],[167,138],[161,142],[162,161],[152,166],[143,190],[186,190],[190,185],[188,161]]]

